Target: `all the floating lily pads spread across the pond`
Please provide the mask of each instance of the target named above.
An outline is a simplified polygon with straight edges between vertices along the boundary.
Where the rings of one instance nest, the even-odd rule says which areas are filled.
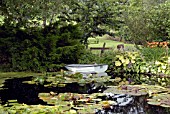
[[[61,74],[60,74],[61,73]],[[48,83],[43,84],[45,87],[55,87],[50,92],[43,92],[38,94],[38,98],[43,100],[47,105],[27,105],[27,104],[19,104],[17,100],[8,100],[7,104],[0,105],[1,113],[11,113],[11,114],[30,114],[30,113],[96,113],[96,111],[104,111],[107,109],[114,109],[114,112],[120,112],[120,109],[127,111],[130,107],[133,107],[134,111],[140,112],[135,107],[145,107],[146,104],[139,105],[141,102],[146,100],[146,97],[141,98],[137,101],[136,97],[133,96],[149,96],[147,99],[148,104],[158,105],[162,107],[169,107],[169,89],[164,88],[158,85],[118,85],[118,86],[108,86],[104,91],[98,91],[95,93],[82,94],[80,92],[80,88],[85,87],[90,83],[90,88],[97,89],[99,86],[103,86],[101,82],[112,82],[111,85],[115,84],[120,79],[111,79],[109,76],[95,76],[89,75],[87,78],[83,78],[79,73],[77,74],[64,74],[63,71],[60,73],[49,73],[46,81]],[[66,72],[65,72],[66,73]],[[11,74],[12,75],[12,74]],[[45,75],[46,76],[46,75]],[[34,77],[36,83],[38,82],[37,78],[40,79],[39,76]],[[42,79],[42,78],[41,78]],[[85,80],[85,81],[82,81]],[[33,85],[35,83],[30,83]],[[24,81],[23,83],[27,83]],[[32,81],[31,81],[32,82]],[[79,83],[78,90],[75,90],[76,93],[72,92],[64,92],[66,90],[66,84]],[[39,82],[38,82],[39,83]],[[85,85],[81,85],[85,84]],[[64,85],[64,86],[63,86]],[[77,85],[76,85],[77,86]],[[41,86],[42,87],[42,86]],[[68,86],[67,86],[68,87]],[[49,89],[48,88],[48,89]],[[57,89],[60,88],[62,92],[58,92]],[[72,88],[72,86],[71,86]],[[73,88],[74,89],[74,88]],[[56,91],[57,92],[56,92]],[[63,93],[64,92],[64,93]],[[83,90],[85,92],[85,90]],[[148,98],[148,97],[147,97]],[[31,99],[31,98],[30,98]],[[161,103],[161,104],[160,104]],[[117,110],[119,109],[119,110]],[[128,109],[128,110],[127,110]],[[156,107],[158,109],[158,107]],[[153,110],[153,108],[152,108]],[[148,111],[148,108],[144,111]]]

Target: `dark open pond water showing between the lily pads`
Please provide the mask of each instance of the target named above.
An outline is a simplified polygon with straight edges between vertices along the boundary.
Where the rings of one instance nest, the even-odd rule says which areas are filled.
[[[9,100],[17,100],[18,103],[24,103],[28,105],[48,105],[47,102],[39,99],[39,93],[49,93],[51,91],[56,93],[79,93],[79,94],[91,94],[96,92],[102,92],[105,87],[94,88],[93,84],[86,84],[80,86],[78,83],[70,83],[65,87],[44,87],[43,85],[27,84],[23,81],[29,81],[32,77],[13,78],[7,79],[4,82],[4,86],[0,89],[0,101],[2,105],[8,104]],[[125,98],[126,95],[119,96],[117,98]],[[130,96],[131,97],[131,96]],[[146,103],[147,96],[131,97],[132,101],[126,106],[113,106],[109,109],[96,110],[96,114],[169,114],[166,108],[151,106]],[[107,96],[102,99],[116,99],[116,97]]]

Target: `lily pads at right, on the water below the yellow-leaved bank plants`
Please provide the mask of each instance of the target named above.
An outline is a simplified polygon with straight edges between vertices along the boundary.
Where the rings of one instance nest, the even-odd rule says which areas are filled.
[[[104,93],[127,94],[132,96],[148,95],[147,103],[161,107],[170,107],[170,89],[157,85],[111,86]]]

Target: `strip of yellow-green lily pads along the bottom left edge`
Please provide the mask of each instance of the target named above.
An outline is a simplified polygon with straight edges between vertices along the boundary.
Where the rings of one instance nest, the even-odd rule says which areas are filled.
[[[75,110],[68,110],[62,106],[26,105],[18,104],[12,107],[0,106],[1,114],[76,114]]]

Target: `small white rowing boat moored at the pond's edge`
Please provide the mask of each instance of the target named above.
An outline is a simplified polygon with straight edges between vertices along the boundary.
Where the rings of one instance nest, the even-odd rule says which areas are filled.
[[[65,66],[69,71],[80,73],[101,73],[108,69],[105,64],[69,64]]]

